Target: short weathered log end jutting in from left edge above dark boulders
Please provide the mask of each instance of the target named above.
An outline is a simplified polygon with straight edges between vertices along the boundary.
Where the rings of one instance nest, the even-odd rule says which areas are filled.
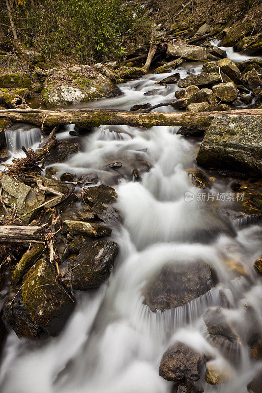
[[[0,243],[30,246],[30,244],[43,242],[44,230],[41,226],[0,226]]]

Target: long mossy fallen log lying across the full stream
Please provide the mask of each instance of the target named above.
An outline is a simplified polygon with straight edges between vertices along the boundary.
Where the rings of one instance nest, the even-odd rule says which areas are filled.
[[[153,126],[208,127],[214,117],[226,115],[232,118],[240,115],[262,117],[261,109],[215,112],[127,112],[116,109],[77,109],[74,111],[47,111],[18,109],[0,111],[0,120],[29,123],[38,127],[55,127],[60,124],[76,124],[80,128],[101,124],[129,125],[151,128]]]

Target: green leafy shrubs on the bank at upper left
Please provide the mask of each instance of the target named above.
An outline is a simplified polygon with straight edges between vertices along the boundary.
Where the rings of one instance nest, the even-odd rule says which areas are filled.
[[[149,22],[141,6],[123,6],[122,0],[27,1],[16,12],[16,26],[26,44],[50,57],[56,55],[87,59],[124,56],[125,41],[145,36]],[[147,18],[148,19],[148,18]]]

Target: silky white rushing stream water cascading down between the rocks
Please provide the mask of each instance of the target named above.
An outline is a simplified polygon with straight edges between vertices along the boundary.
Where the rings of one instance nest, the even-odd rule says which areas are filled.
[[[185,78],[201,69],[199,63],[186,63],[172,73]],[[88,107],[130,109],[134,104],[168,102],[177,84],[155,84],[168,75],[146,75],[121,84],[122,96]],[[144,95],[154,89],[160,89],[156,95]],[[69,137],[70,128],[58,136]],[[113,230],[112,240],[119,244],[120,254],[108,285],[78,293],[77,309],[59,337],[35,347],[9,334],[0,370],[1,393],[169,393],[173,383],[158,375],[158,366],[175,339],[230,371],[231,380],[219,387],[203,382],[204,392],[247,392],[246,385],[260,364],[251,361],[245,342],[231,349],[233,356],[240,354],[240,362],[224,358],[211,345],[202,316],[208,307],[221,306],[219,291],[223,289],[233,306],[226,311],[230,320],[243,331],[249,329],[253,323],[245,314],[245,304],[249,304],[262,326],[262,285],[252,267],[261,256],[261,228],[235,225],[232,237],[232,225],[219,216],[217,204],[197,200],[200,190],[190,185],[184,169],[194,166],[198,143],[175,135],[176,131],[176,127],[101,126],[82,137],[82,153],[57,165],[57,176],[65,171],[97,173],[102,182],[116,187],[116,208],[123,225]],[[28,143],[35,141],[34,137]],[[15,150],[20,147],[13,146]],[[117,182],[104,170],[113,161],[121,161],[124,180]],[[142,175],[141,182],[130,181],[129,168],[141,161],[148,162],[151,170]],[[210,190],[228,191],[223,181]],[[186,192],[194,196],[191,202],[185,199]],[[241,261],[247,276],[235,275],[226,259]],[[216,271],[219,283],[215,288],[175,310],[154,313],[143,305],[141,289],[161,266],[196,260]]]

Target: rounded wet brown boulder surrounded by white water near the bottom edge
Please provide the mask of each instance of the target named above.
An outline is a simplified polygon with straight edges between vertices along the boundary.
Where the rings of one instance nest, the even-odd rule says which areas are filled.
[[[167,381],[185,382],[200,379],[203,355],[176,341],[164,353],[159,366],[159,375]]]

